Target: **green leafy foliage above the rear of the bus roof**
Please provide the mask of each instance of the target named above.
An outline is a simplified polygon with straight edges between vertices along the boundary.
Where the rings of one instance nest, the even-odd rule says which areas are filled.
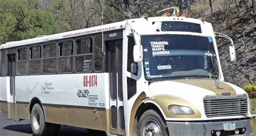
[[[44,9],[38,0],[2,0],[0,3],[0,44],[56,33],[55,2]],[[64,6],[64,4],[63,4]],[[59,22],[59,32],[69,25]]]

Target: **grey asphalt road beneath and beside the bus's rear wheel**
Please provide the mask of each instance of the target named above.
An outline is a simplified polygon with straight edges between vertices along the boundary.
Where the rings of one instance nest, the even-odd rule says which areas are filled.
[[[26,121],[15,121],[6,118],[2,112],[0,112],[0,135],[1,136],[31,136],[33,135],[30,120]],[[61,126],[58,136],[89,136],[89,135],[103,135],[100,133],[90,134],[84,128]]]

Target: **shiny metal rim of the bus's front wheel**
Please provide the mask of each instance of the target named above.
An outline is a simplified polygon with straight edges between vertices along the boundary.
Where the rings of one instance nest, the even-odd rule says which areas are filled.
[[[161,135],[160,126],[154,120],[149,120],[143,127],[143,134],[147,136]]]

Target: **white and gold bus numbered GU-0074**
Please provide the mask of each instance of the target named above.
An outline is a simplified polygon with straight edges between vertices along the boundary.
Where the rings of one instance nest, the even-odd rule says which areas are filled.
[[[235,60],[234,47],[230,47]],[[248,94],[224,81],[211,23],[174,10],[0,46],[0,110],[107,135],[255,135]]]

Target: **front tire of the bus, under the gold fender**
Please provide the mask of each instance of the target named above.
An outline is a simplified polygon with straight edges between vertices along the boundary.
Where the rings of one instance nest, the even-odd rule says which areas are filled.
[[[169,135],[167,125],[154,110],[145,111],[139,119],[138,135]]]

